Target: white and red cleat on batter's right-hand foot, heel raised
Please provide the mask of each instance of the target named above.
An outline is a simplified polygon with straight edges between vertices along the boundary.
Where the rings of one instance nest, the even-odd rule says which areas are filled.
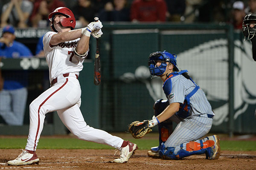
[[[126,163],[129,158],[135,153],[135,150],[138,149],[137,144],[133,144],[127,141],[127,146],[122,147],[120,150],[120,158],[114,159],[116,163]]]

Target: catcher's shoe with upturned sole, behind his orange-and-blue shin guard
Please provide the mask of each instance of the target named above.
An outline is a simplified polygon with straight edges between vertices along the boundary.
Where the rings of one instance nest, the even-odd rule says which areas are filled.
[[[207,148],[206,159],[218,159],[221,155],[220,139],[217,135],[207,137],[209,140],[214,141],[212,147]]]

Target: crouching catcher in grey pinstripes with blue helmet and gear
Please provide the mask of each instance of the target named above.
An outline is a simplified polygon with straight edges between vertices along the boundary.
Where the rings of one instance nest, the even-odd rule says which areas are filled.
[[[215,114],[204,91],[189,77],[187,70],[179,71],[176,58],[175,54],[166,51],[150,54],[151,77],[158,76],[163,80],[163,91],[168,100],[157,100],[152,120],[133,122],[129,130],[134,138],[141,138],[158,125],[159,146],[151,147],[150,157],[182,159],[206,154],[206,159],[218,159],[218,136],[201,139],[211,129]],[[173,132],[172,122],[177,123]]]

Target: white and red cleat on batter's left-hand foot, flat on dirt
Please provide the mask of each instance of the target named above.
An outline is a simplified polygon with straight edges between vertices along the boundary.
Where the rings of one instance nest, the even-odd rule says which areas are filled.
[[[22,153],[20,153],[20,155],[16,159],[7,162],[7,164],[9,165],[25,165],[38,163],[39,159],[35,152],[29,153],[27,150],[22,150]]]

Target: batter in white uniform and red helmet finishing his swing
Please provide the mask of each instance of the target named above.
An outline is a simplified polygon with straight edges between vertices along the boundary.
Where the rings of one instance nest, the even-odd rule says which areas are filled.
[[[73,30],[76,20],[66,7],[56,8],[49,14],[53,31],[44,35],[44,54],[49,66],[51,88],[38,96],[29,105],[30,125],[25,150],[10,165],[38,163],[35,151],[43,130],[46,113],[57,111],[64,125],[78,139],[108,144],[120,151],[120,158],[113,160],[125,163],[137,149],[137,145],[94,129],[86,124],[79,109],[81,88],[79,71],[83,69],[84,58],[89,51],[90,35],[101,37],[102,23],[92,22],[86,28]]]

